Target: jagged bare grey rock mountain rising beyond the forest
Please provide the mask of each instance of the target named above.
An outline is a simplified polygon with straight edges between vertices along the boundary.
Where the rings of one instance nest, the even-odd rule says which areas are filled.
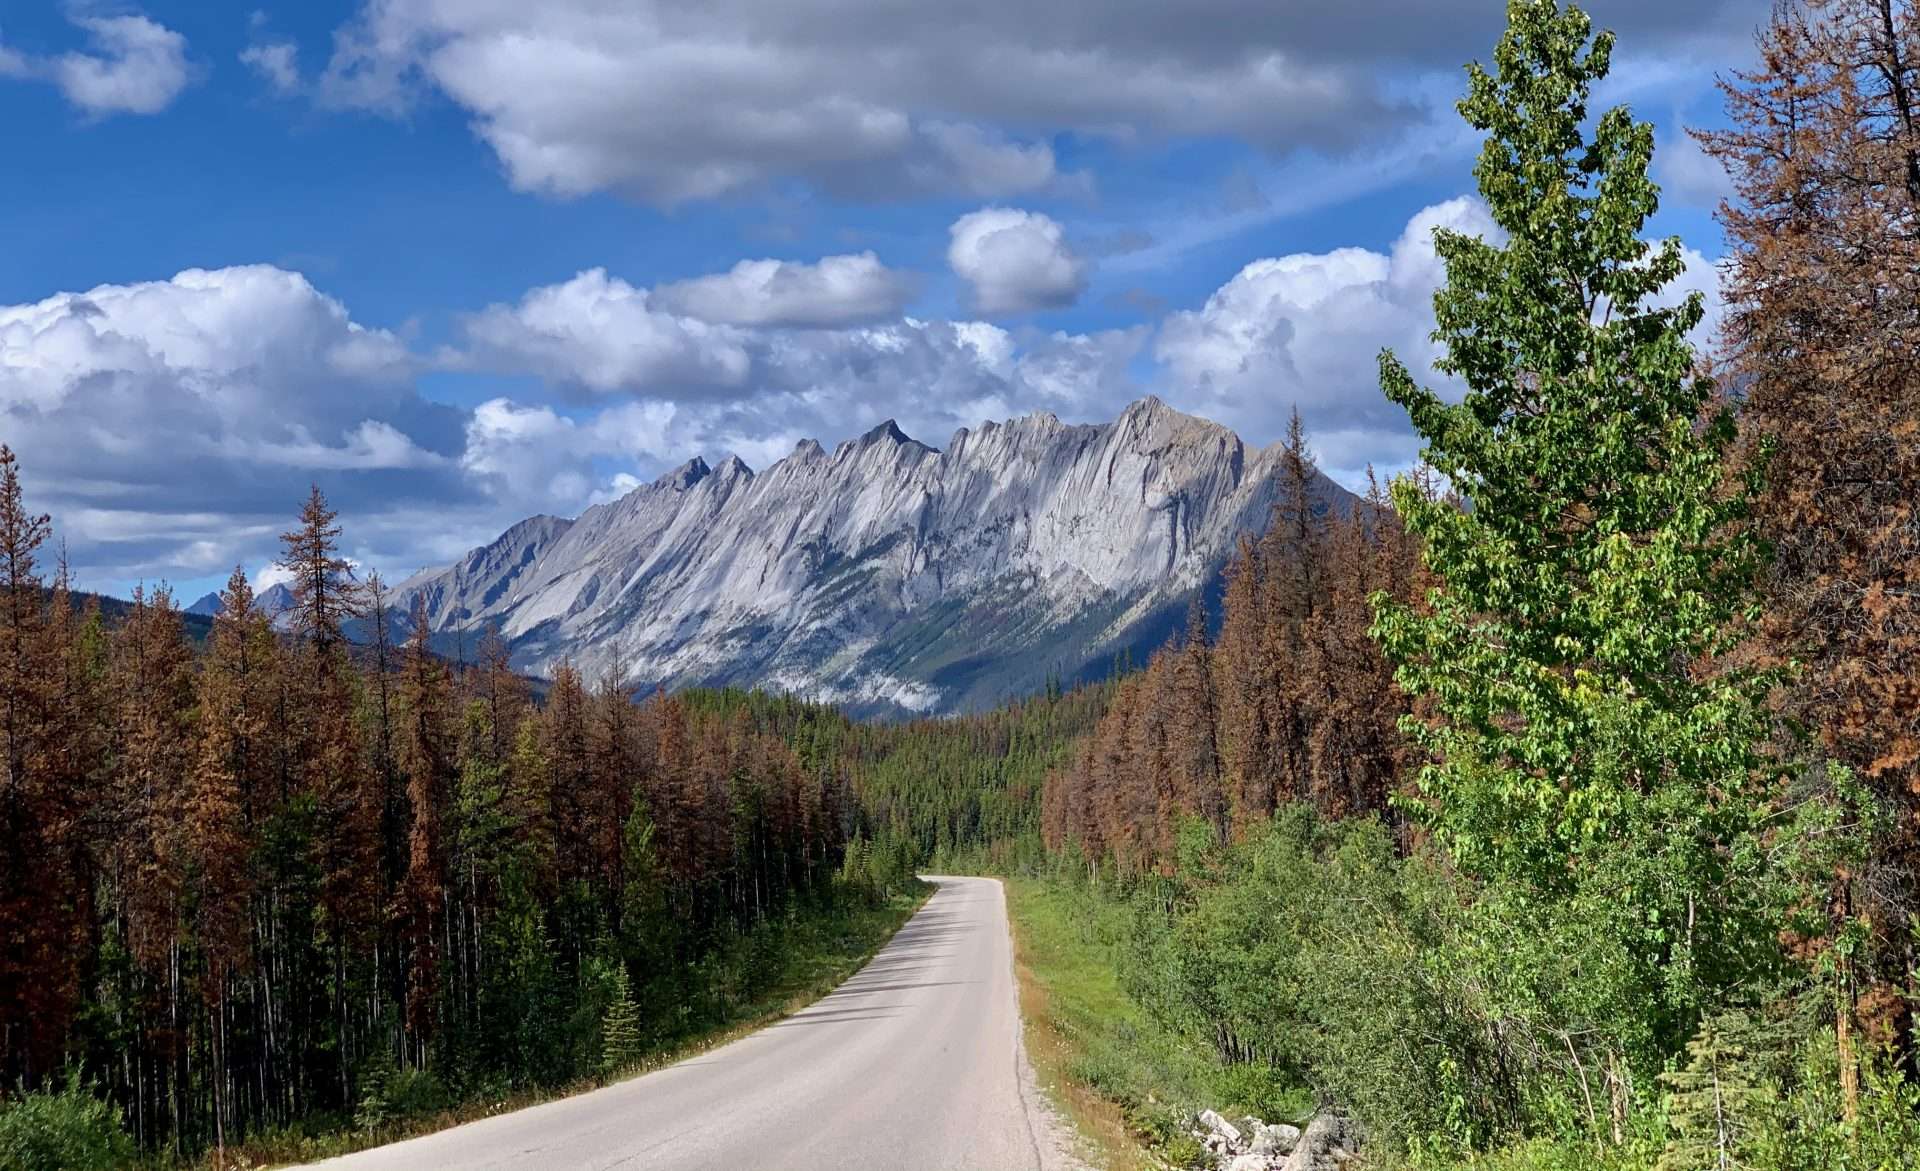
[[[1140,399],[945,449],[887,422],[764,472],[695,459],[576,520],[534,516],[403,582],[436,637],[515,664],[747,685],[868,712],[972,710],[1142,658],[1271,513],[1279,447]],[[1344,509],[1332,482],[1319,507]]]

